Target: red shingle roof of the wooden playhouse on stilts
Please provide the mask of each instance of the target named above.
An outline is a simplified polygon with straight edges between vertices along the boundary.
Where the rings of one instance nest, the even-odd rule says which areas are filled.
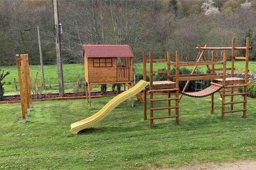
[[[94,45],[85,44],[86,57],[134,57],[129,45]]]

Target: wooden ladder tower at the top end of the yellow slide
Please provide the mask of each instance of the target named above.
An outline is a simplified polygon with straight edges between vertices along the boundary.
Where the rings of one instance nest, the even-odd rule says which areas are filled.
[[[153,127],[153,123],[155,119],[162,119],[162,118],[176,118],[176,123],[179,123],[179,88],[176,82],[170,81],[170,78],[168,78],[166,81],[153,81],[153,74],[158,73],[167,73],[167,75],[170,75],[170,66],[167,65],[167,69],[165,70],[153,70],[153,63],[154,62],[170,62],[170,53],[167,52],[167,58],[164,59],[154,59],[153,53],[150,52],[149,59],[146,58],[146,53],[143,52],[142,54],[143,58],[143,80],[146,81],[146,74],[150,75],[150,86],[148,92],[150,93],[150,126]],[[146,62],[149,62],[150,64],[150,70],[146,70]],[[177,72],[178,73],[178,72]],[[165,92],[167,94],[167,98],[160,98],[160,99],[154,99],[154,94],[159,94]],[[146,119],[146,93],[147,90],[143,90],[144,95],[144,106],[143,106],[143,118]],[[171,94],[174,93],[175,97],[171,98]],[[175,100],[175,106],[170,105],[170,101]],[[154,107],[155,102],[159,101],[167,101],[167,107]],[[175,109],[175,113],[171,114],[171,109]],[[158,110],[167,110],[167,115],[163,116],[154,116],[154,111]]]

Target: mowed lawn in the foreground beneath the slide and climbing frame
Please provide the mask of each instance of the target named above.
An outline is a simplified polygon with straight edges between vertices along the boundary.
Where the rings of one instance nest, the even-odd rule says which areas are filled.
[[[154,128],[142,118],[143,104],[136,100],[132,108],[126,100],[78,135],[70,133],[70,124],[95,114],[112,97],[92,99],[91,108],[85,100],[34,102],[26,125],[20,104],[0,105],[0,169],[147,169],[256,160],[256,99],[248,99],[246,118],[239,112],[221,119],[218,97],[210,113],[210,97],[184,96],[180,124],[160,119]]]

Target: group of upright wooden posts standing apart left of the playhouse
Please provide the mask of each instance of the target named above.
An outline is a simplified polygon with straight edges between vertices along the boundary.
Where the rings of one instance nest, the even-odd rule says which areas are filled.
[[[23,123],[26,124],[28,112],[30,112],[30,108],[32,108],[28,54],[16,55],[16,65],[18,71],[20,104],[22,105],[22,119]]]

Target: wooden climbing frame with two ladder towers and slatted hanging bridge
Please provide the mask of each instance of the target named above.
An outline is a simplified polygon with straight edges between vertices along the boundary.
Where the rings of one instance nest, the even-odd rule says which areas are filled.
[[[176,123],[179,123],[179,102],[182,98],[182,95],[187,95],[193,98],[203,98],[205,96],[211,95],[211,111],[214,111],[214,93],[221,90],[221,98],[222,98],[222,118],[225,117],[226,113],[233,113],[233,112],[243,112],[243,117],[246,117],[246,103],[247,103],[247,83],[248,83],[248,60],[249,60],[249,37],[246,38],[246,46],[245,47],[236,47],[235,40],[232,38],[231,47],[201,47],[198,45],[196,47],[199,52],[200,56],[196,62],[179,62],[179,53],[176,52],[176,61],[170,61],[170,53],[167,52],[167,59],[153,59],[153,54],[150,52],[149,59],[146,59],[145,52],[143,52],[143,79],[146,79],[146,74],[150,74],[150,125],[153,126],[154,119],[161,119],[161,118],[171,118],[176,117]],[[205,50],[212,50],[211,51],[211,61],[207,61],[206,57],[204,56]],[[223,55],[215,55],[215,50],[223,50]],[[231,55],[227,55],[227,51],[231,50]],[[236,50],[245,50],[244,57],[238,57],[235,55]],[[227,58],[231,58],[231,68],[226,68],[226,60]],[[203,59],[203,61],[201,61]],[[222,61],[216,61],[216,59],[222,59]],[[235,60],[245,60],[245,68],[235,68],[234,61]],[[146,71],[146,62],[150,62],[150,71]],[[167,61],[167,70],[158,70],[153,71],[153,62],[166,62]],[[170,65],[173,65],[176,70],[176,75],[170,75]],[[207,66],[208,72],[207,74],[195,74],[197,66],[205,65]],[[215,68],[215,65],[222,65],[222,68]],[[193,70],[191,71],[190,75],[179,75],[179,67],[182,66],[194,66]],[[211,67],[211,68],[210,68]],[[226,70],[231,70],[231,77],[226,78]],[[245,72],[245,79],[235,78],[234,77],[234,70],[244,71]],[[153,81],[153,74],[155,73],[166,73],[167,71],[167,81]],[[222,71],[222,75],[217,75],[216,71]],[[185,92],[188,86],[189,81],[191,80],[211,80],[210,86],[206,89],[196,92]],[[173,80],[173,81],[171,81]],[[179,81],[186,81],[186,84],[183,90],[179,90]],[[234,93],[234,88],[237,87],[244,87],[244,92],[242,93]],[[229,90],[230,89],[230,90]],[[179,96],[178,93],[181,93]],[[175,98],[170,98],[170,92],[175,92]],[[230,93],[226,93],[226,91],[230,91]],[[143,107],[143,117],[146,119],[146,90],[144,92],[144,107]],[[158,92],[167,92],[168,98],[163,99],[153,99],[154,94]],[[243,101],[233,101],[234,96],[243,95]],[[230,96],[230,102],[226,102],[226,96]],[[176,100],[176,106],[171,107],[170,101]],[[154,108],[153,102],[157,101],[168,101],[167,107],[160,107]],[[234,109],[234,104],[241,104],[243,103],[243,109]],[[226,110],[226,105],[230,105],[230,110]],[[155,110],[168,110],[168,114],[165,116],[154,117],[153,111]],[[175,114],[170,114],[170,109],[176,109]]]

